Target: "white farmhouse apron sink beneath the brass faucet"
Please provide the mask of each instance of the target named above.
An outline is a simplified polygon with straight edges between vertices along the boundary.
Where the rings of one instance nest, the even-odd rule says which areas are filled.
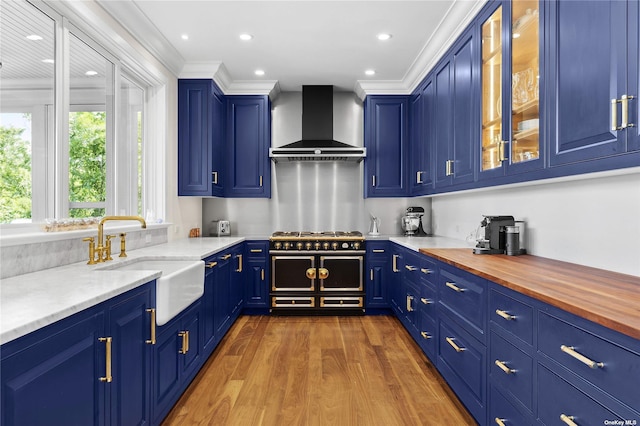
[[[110,271],[162,271],[156,278],[156,324],[164,325],[204,294],[204,261],[134,259]]]

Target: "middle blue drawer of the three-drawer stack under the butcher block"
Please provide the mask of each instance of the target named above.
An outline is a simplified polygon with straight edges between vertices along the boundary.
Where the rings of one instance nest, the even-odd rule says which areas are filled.
[[[531,410],[533,359],[494,332],[490,341],[489,374],[492,381]]]

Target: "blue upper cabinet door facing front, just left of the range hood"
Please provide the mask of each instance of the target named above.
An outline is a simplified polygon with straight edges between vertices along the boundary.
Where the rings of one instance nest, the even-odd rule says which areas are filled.
[[[227,96],[226,197],[270,198],[268,96]]]

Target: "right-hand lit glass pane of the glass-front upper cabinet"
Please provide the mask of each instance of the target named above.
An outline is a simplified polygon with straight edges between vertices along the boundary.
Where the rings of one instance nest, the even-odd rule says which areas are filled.
[[[538,0],[513,1],[511,11],[511,163],[540,156]]]

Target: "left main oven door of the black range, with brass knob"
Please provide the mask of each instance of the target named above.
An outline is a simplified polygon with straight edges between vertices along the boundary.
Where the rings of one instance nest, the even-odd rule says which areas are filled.
[[[271,256],[271,291],[308,291],[316,286],[315,256]]]

